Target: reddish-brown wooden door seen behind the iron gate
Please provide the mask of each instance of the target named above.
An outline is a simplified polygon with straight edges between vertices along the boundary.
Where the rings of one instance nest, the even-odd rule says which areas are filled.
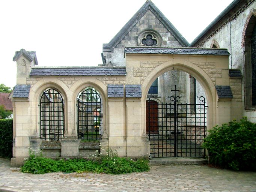
[[[158,134],[158,102],[146,102],[146,133]]]

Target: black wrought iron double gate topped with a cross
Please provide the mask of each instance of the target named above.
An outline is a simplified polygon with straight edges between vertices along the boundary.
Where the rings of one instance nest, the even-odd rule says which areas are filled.
[[[147,101],[151,157],[204,157],[201,145],[206,134],[205,98],[199,97],[199,104],[177,104],[181,99],[176,96],[179,90],[175,86],[172,91],[175,94],[169,97],[170,103],[156,104],[153,96]]]

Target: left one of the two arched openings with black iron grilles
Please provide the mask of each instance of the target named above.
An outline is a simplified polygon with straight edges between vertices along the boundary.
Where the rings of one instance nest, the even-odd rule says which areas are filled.
[[[63,139],[64,101],[56,89],[47,89],[40,98],[41,139],[46,141]]]

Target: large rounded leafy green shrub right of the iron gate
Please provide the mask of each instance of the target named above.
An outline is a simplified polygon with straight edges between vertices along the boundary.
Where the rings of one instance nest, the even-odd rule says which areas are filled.
[[[210,163],[234,170],[256,170],[256,124],[246,117],[213,127],[203,147],[209,152]]]

